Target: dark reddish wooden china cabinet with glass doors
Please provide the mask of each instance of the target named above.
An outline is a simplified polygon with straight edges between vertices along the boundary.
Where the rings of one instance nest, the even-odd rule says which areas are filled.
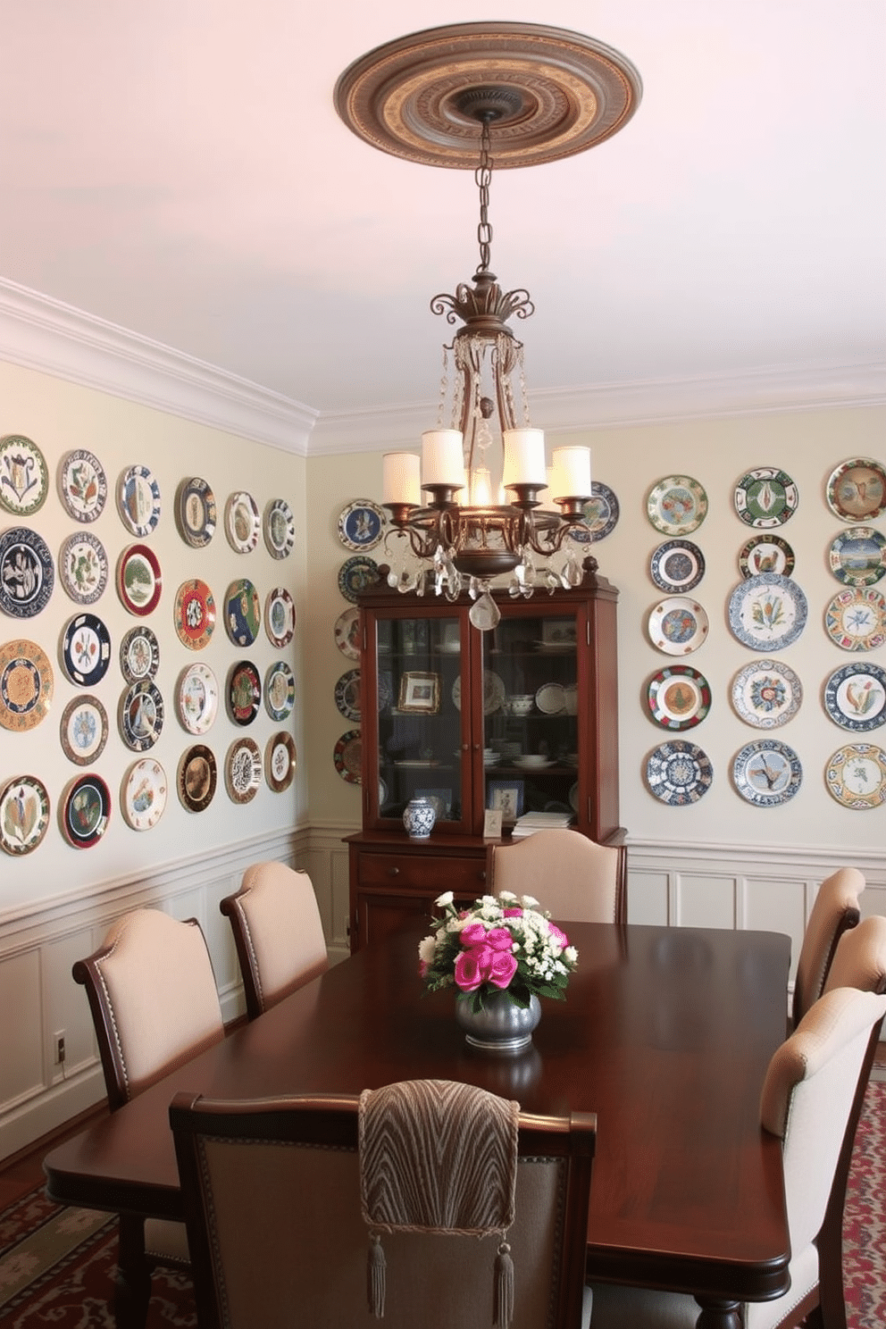
[[[360,692],[363,829],[348,836],[351,949],[434,898],[481,896],[486,808],[502,840],[523,813],[558,815],[599,844],[620,844],[618,591],[586,560],[575,590],[531,599],[493,591],[501,622],[481,633],[472,599],[363,591]],[[426,841],[402,811],[424,793],[437,809]],[[491,841],[498,843],[498,841]]]

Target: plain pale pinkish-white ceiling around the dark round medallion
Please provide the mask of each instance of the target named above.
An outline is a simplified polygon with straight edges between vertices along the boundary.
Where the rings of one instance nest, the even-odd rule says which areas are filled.
[[[0,278],[321,417],[434,401],[452,328],[429,302],[473,275],[476,185],[368,146],[333,88],[379,44],[486,13],[0,12]],[[493,171],[491,267],[535,304],[534,415],[558,393],[764,372],[882,381],[882,0],[510,0],[507,20],[594,36],[643,80],[608,141]]]

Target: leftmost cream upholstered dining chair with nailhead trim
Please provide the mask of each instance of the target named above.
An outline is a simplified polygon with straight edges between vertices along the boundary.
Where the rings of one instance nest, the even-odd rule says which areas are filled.
[[[112,1112],[224,1037],[206,940],[195,918],[159,909],[118,918],[102,946],[73,966],[89,998]],[[183,1223],[120,1219],[114,1313],[121,1326],[147,1316],[157,1265],[189,1269]]]

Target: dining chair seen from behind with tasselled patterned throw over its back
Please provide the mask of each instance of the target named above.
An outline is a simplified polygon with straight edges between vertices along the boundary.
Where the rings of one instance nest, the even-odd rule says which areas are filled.
[[[588,1322],[592,1114],[526,1116],[408,1080],[360,1098],[179,1094],[170,1123],[201,1329],[491,1329],[494,1305],[501,1329]]]

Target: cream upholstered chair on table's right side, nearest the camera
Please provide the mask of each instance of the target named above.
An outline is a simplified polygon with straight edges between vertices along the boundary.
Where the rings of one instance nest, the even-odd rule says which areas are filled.
[[[743,1329],[793,1329],[806,1316],[816,1329],[840,1324],[842,1276],[837,1289],[834,1271],[825,1269],[820,1249],[833,1216],[834,1174],[842,1151],[851,1150],[883,1013],[886,995],[834,987],[810,1007],[769,1063],[760,1116],[764,1130],[782,1139],[790,1288],[776,1301],[745,1302]],[[594,1286],[592,1329],[695,1329],[699,1305],[689,1296]]]

